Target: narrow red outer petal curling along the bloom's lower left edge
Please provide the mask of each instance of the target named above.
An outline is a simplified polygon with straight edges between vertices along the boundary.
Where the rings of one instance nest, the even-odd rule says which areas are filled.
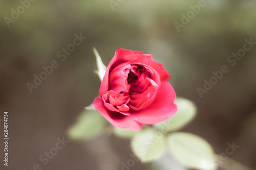
[[[129,116],[122,115],[118,112],[113,112],[104,107],[103,101],[100,98],[95,98],[93,105],[99,111],[99,113],[105,117],[112,125],[119,128],[127,128],[131,130],[140,130],[142,124],[138,123],[136,120],[130,118]]]

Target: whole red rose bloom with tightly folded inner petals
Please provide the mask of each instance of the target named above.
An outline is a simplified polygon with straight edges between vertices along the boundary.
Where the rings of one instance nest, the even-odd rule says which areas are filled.
[[[119,48],[110,61],[93,105],[112,125],[140,130],[177,111],[168,72],[152,55]]]

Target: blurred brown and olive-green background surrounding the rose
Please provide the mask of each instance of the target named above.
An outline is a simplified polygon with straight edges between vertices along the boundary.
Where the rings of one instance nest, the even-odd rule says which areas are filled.
[[[115,170],[130,159],[130,140],[113,135],[70,141],[47,165],[38,159],[98,95],[93,46],[105,65],[119,47],[152,54],[172,75],[169,82],[177,96],[198,107],[195,120],[181,131],[205,138],[217,154],[234,141],[240,148],[229,157],[255,169],[256,46],[233,67],[227,57],[237,53],[245,39],[256,41],[256,2],[206,0],[178,32],[174,22],[181,23],[181,14],[199,1],[113,1],[118,4],[114,10],[109,0],[31,2],[10,27],[4,17],[11,18],[11,9],[21,4],[0,1],[0,118],[9,112],[10,137],[9,166],[1,161],[1,169],[33,169],[39,164],[47,170]],[[57,52],[80,33],[87,39],[61,61]],[[53,60],[59,66],[30,93],[27,83]],[[222,65],[229,72],[200,98],[197,88]],[[146,167],[138,162],[131,169]]]

